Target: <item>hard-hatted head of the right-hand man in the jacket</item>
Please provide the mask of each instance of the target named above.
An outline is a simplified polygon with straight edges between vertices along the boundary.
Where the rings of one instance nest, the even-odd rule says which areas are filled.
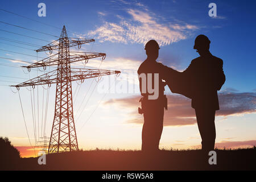
[[[205,55],[205,53],[209,52],[210,48],[210,40],[205,35],[199,35],[195,39],[195,46],[194,49],[196,49],[199,53],[199,55]]]

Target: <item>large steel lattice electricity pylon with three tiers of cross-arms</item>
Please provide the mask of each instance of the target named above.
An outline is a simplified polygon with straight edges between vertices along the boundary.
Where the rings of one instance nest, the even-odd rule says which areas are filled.
[[[13,85],[19,89],[23,86],[32,86],[32,88],[35,88],[35,85],[56,84],[55,114],[52,123],[51,138],[49,140],[48,154],[79,150],[73,118],[72,81],[81,80],[81,82],[83,82],[87,78],[112,74],[118,75],[120,73],[120,71],[110,71],[106,69],[71,68],[71,63],[77,61],[85,60],[85,63],[87,63],[89,59],[95,57],[101,57],[102,60],[105,59],[105,53],[69,51],[69,47],[78,46],[81,48],[82,44],[94,41],[94,39],[68,38],[64,26],[59,39],[36,50],[36,52],[49,51],[52,53],[53,50],[59,49],[59,53],[26,66],[28,71],[30,71],[31,68],[38,67],[43,67],[45,70],[47,66],[52,65],[57,65],[57,69],[21,84]],[[57,59],[54,58],[56,55],[58,55]]]

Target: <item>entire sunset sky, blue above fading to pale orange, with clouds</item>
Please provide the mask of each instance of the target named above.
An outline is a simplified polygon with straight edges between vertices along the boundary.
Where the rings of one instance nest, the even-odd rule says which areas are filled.
[[[7,85],[16,85],[43,75],[43,69],[34,69],[28,73],[26,69],[18,68],[19,65],[27,64],[15,60],[34,62],[47,57],[48,52],[36,55],[33,49],[45,46],[57,38],[6,23],[58,37],[65,25],[69,37],[96,39],[95,43],[83,45],[79,51],[104,52],[107,55],[102,64],[100,59],[91,59],[85,68],[121,71],[119,77],[106,76],[98,82],[92,78],[85,80],[81,86],[80,82],[72,83],[79,148],[139,150],[143,116],[138,114],[141,96],[137,69],[146,59],[144,44],[155,39],[160,45],[158,61],[183,71],[192,59],[199,56],[193,49],[194,40],[199,34],[208,36],[211,41],[210,52],[224,61],[226,82],[219,92],[216,147],[256,145],[255,1],[214,1],[217,5],[217,16],[214,18],[208,15],[208,5],[213,1],[203,0],[43,1],[46,3],[46,17],[38,16],[40,2],[42,1],[0,2],[0,21],[5,22],[0,23],[0,136],[9,137],[22,156],[34,155],[34,149],[30,147],[27,137],[18,93],[15,93],[15,88],[10,89]],[[35,46],[10,42],[10,39]],[[78,49],[74,47],[71,51]],[[76,63],[72,67],[83,68],[84,64]],[[53,69],[55,68],[50,68]],[[55,86],[52,85],[49,89],[46,137],[51,135]],[[20,96],[28,134],[34,146],[30,89],[21,88]],[[43,92],[42,86],[38,89],[39,108],[37,100],[35,104],[37,138],[43,136],[43,93],[44,109],[46,106],[46,90]],[[168,87],[165,93],[168,95],[168,111],[164,113],[160,148],[199,148],[201,139],[191,101],[172,94]],[[37,88],[35,95],[37,97]]]

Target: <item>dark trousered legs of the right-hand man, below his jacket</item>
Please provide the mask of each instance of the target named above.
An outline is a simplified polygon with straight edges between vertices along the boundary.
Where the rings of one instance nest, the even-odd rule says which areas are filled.
[[[214,150],[216,129],[215,129],[215,110],[196,109],[197,125],[202,139],[202,150]]]

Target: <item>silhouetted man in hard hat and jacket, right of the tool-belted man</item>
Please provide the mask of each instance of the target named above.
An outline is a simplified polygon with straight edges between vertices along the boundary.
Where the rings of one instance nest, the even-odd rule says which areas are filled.
[[[210,51],[210,40],[205,35],[195,39],[195,46],[200,55],[191,61],[184,72],[169,69],[168,86],[174,93],[180,93],[192,99],[192,107],[196,111],[197,125],[199,127],[202,150],[214,150],[216,130],[215,111],[218,105],[217,90],[225,82],[222,69],[223,61],[213,56]]]

